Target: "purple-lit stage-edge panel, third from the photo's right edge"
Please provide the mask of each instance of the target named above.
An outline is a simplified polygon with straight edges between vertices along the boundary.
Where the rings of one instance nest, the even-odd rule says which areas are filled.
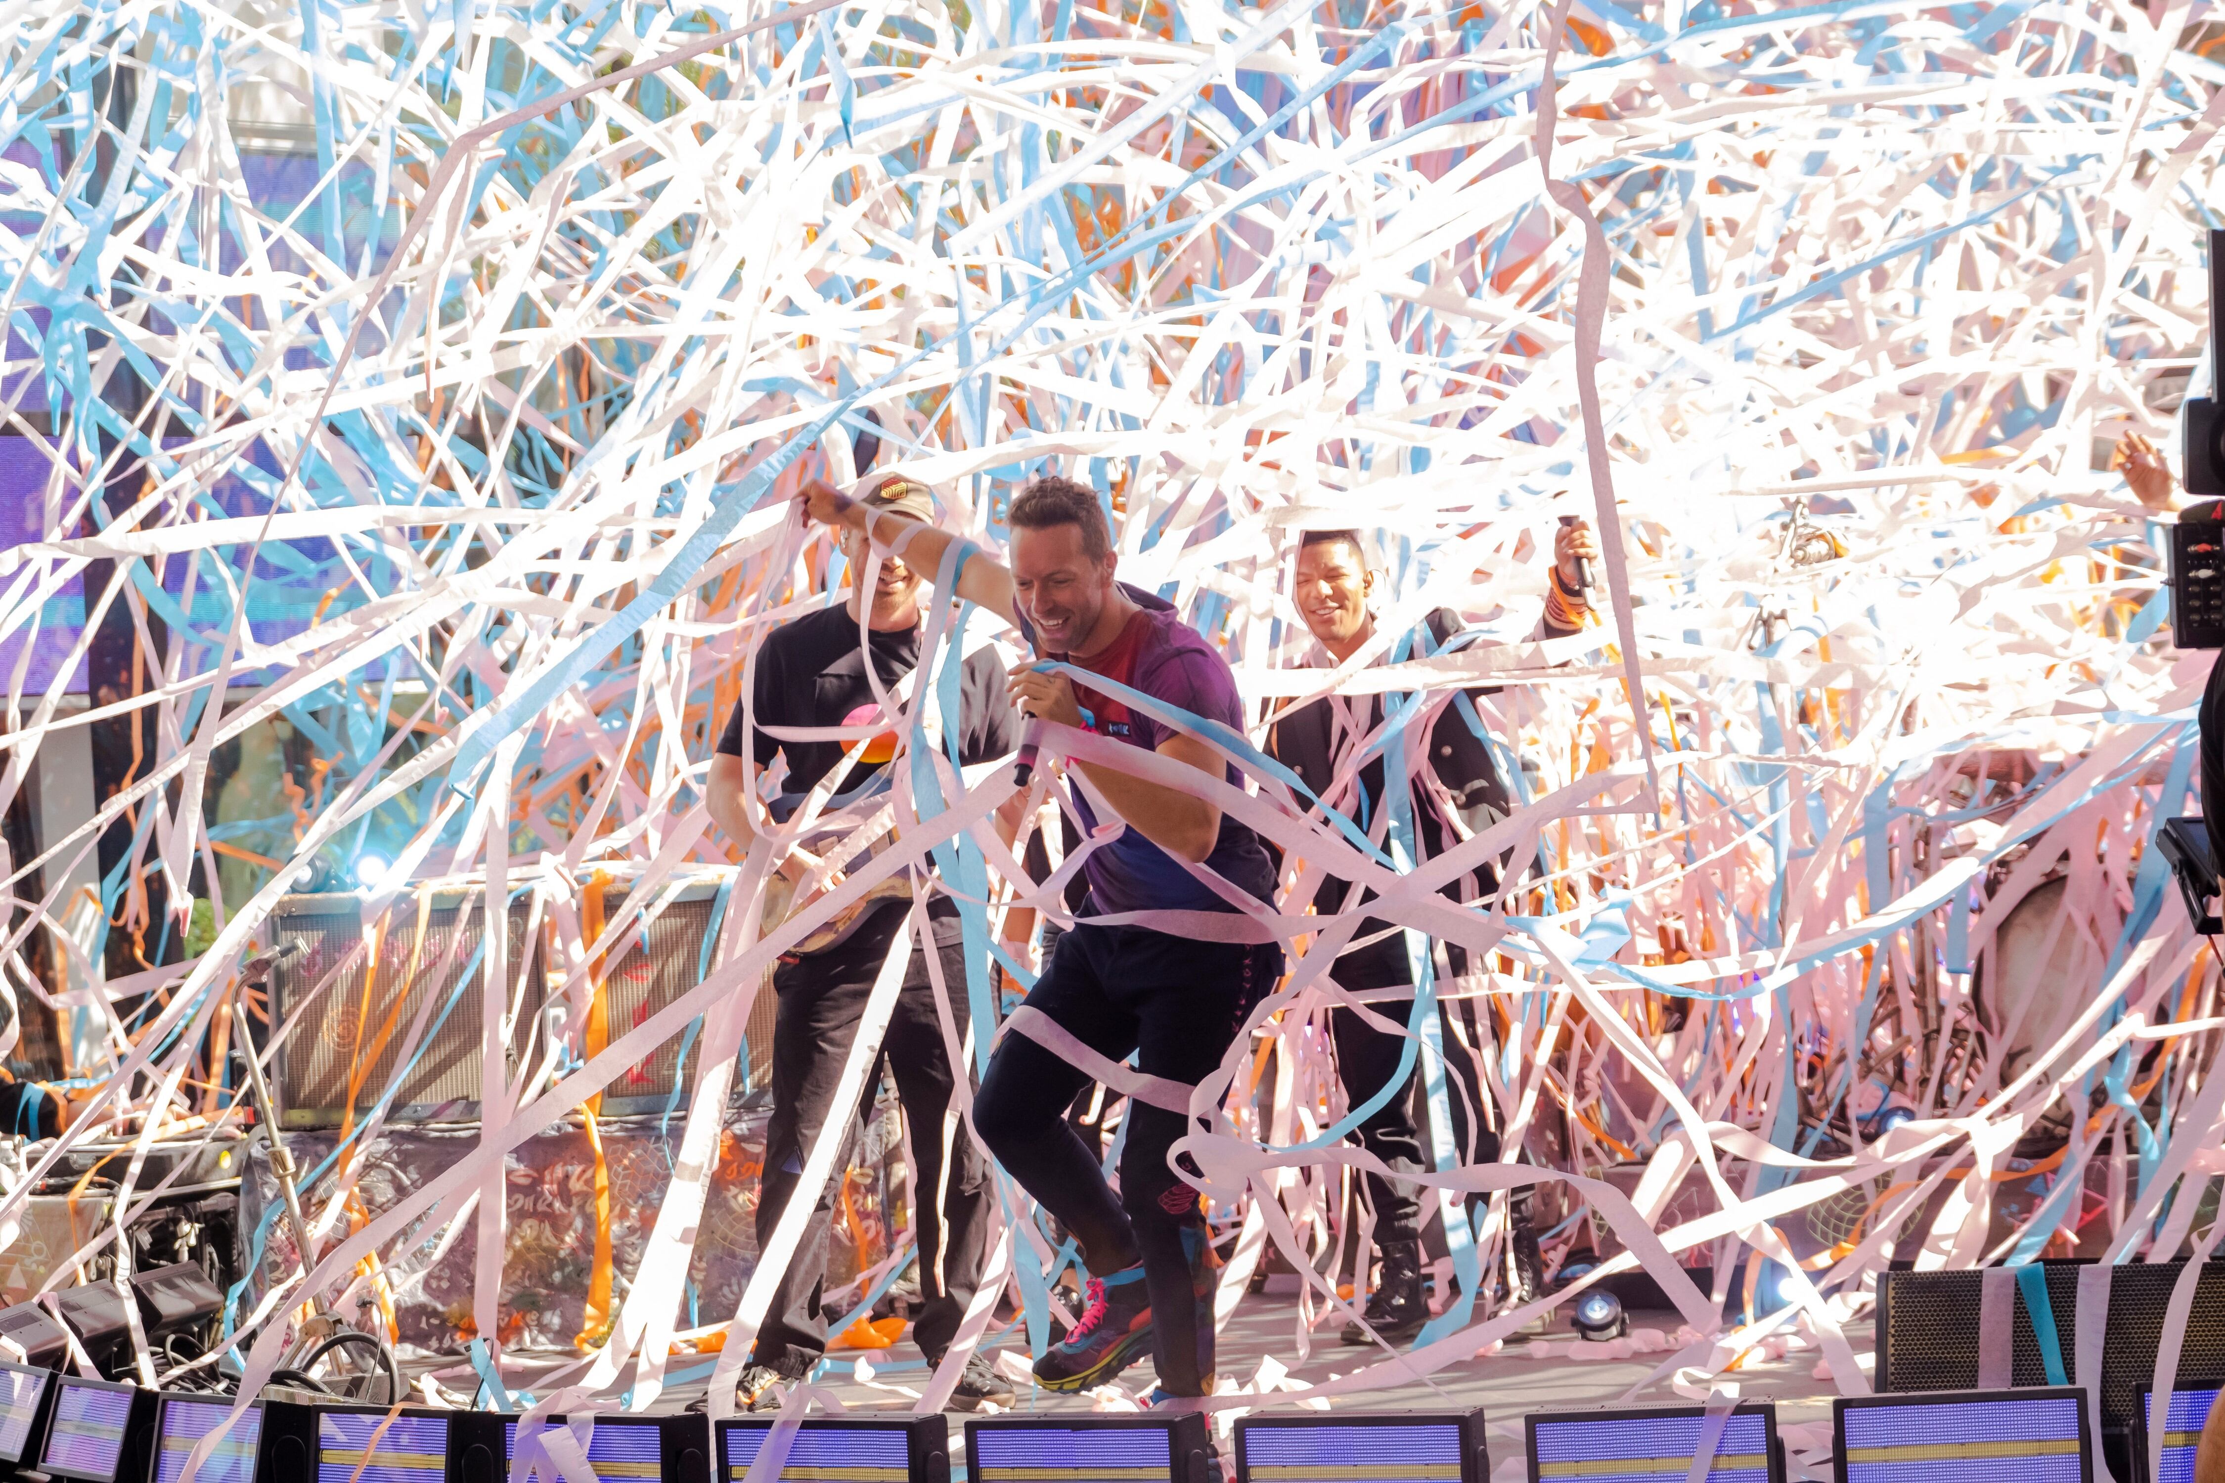
[[[1704,1405],[1646,1405],[1524,1416],[1529,1479],[1638,1479],[1684,1483],[1707,1427]],[[1747,1403],[1724,1416],[1707,1483],[1784,1483],[1778,1407]]]

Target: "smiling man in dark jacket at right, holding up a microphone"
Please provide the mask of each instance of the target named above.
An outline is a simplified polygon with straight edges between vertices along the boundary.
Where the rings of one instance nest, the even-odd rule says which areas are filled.
[[[1560,638],[1584,625],[1589,600],[1580,585],[1580,563],[1598,560],[1598,538],[1582,522],[1564,525],[1555,538],[1553,591],[1546,598],[1542,634]],[[1342,665],[1362,645],[1375,638],[1375,616],[1368,609],[1368,594],[1375,574],[1368,569],[1357,531],[1306,531],[1297,556],[1297,611],[1306,627],[1326,649],[1326,663]],[[1451,609],[1437,609],[1426,620],[1413,643],[1393,643],[1377,663],[1400,658],[1422,658],[1442,651],[1464,627]],[[1468,691],[1471,698],[1482,691]],[[1346,818],[1368,829],[1373,838],[1384,838],[1377,825],[1384,812],[1384,758],[1375,752],[1357,769],[1351,760],[1364,749],[1384,723],[1382,696],[1322,696],[1275,723],[1268,734],[1268,754],[1295,772],[1299,780],[1322,796]],[[1457,843],[1446,818],[1457,814],[1468,834],[1489,829],[1511,812],[1511,794],[1491,747],[1477,736],[1468,720],[1468,707],[1453,700],[1437,711],[1428,731],[1426,769],[1442,785],[1444,796],[1428,787],[1428,778],[1413,774],[1411,820],[1417,860],[1428,860]],[[1404,772],[1404,767],[1402,767]],[[1475,900],[1497,892],[1497,869],[1484,867],[1468,878],[1446,887],[1448,896]],[[1313,905],[1322,914],[1344,909],[1348,892],[1344,880],[1322,880],[1313,894]],[[1368,940],[1373,938],[1373,940]],[[1355,994],[1368,989],[1413,987],[1413,961],[1406,952],[1406,934],[1391,923],[1368,918],[1337,956],[1333,976],[1337,987]],[[1462,947],[1446,943],[1446,967],[1460,974],[1466,965]],[[1408,1009],[1397,1003],[1371,1005],[1393,1021],[1408,1021]],[[1446,1065],[1453,1072],[1451,1114],[1453,1143],[1460,1163],[1493,1163],[1500,1156],[1497,1134],[1482,1123],[1484,1087],[1475,1074],[1477,1045],[1473,1001],[1440,1001],[1437,1007]],[[1375,1029],[1351,1009],[1331,1009],[1331,1036],[1337,1047],[1337,1076],[1344,1092],[1357,1107],[1382,1092],[1384,1083],[1397,1076],[1404,1056],[1404,1036]],[[1417,1114],[1422,1105],[1422,1056],[1417,1054],[1406,1072],[1406,1085],[1395,1089],[1382,1107],[1359,1123],[1359,1145],[1400,1172],[1424,1172],[1422,1134]],[[1471,1138],[1473,1127],[1473,1138]],[[1428,1321],[1428,1301],[1422,1292],[1422,1201],[1417,1185],[1371,1174],[1366,1178],[1368,1203],[1375,1207],[1375,1250],[1382,1256],[1382,1276],[1368,1296],[1366,1327],[1353,1323],[1344,1330],[1344,1343],[1373,1343],[1368,1330],[1388,1343],[1413,1338]],[[1526,1192],[1511,1201],[1511,1281],[1513,1296],[1533,1292],[1537,1272],[1537,1234],[1529,1221]]]

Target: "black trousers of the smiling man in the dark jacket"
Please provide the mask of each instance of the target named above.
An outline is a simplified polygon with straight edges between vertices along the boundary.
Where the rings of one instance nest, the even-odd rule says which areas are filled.
[[[1393,952],[1395,949],[1395,952]],[[1359,952],[1337,958],[1337,985],[1351,992],[1366,989],[1411,989],[1413,969],[1406,963],[1406,943],[1397,936],[1371,943]],[[1440,985],[1442,987],[1442,985]],[[1371,1009],[1386,1021],[1406,1023],[1413,1016],[1413,998],[1371,1003]],[[1455,1038],[1453,1025],[1462,1034]],[[1437,1032],[1444,1043],[1444,1061],[1451,1069],[1446,1078],[1446,1101],[1453,1112],[1453,1156],[1460,1163],[1497,1163],[1500,1134],[1473,1121],[1471,1109],[1484,1105],[1482,1078],[1466,1045],[1477,1045],[1471,1001],[1437,1001]],[[1351,1009],[1328,1012],[1328,1034],[1337,1045],[1337,1081],[1344,1096],[1357,1107],[1382,1092],[1384,1083],[1397,1076],[1400,1056],[1406,1052],[1406,1036],[1375,1029]],[[1424,1156],[1422,1127],[1428,1125],[1428,1094],[1422,1081],[1424,1049],[1417,1045],[1406,1083],[1391,1092],[1391,1098],[1359,1123],[1359,1147],[1368,1149],[1397,1172],[1428,1174],[1431,1161]],[[1471,1156],[1471,1127],[1475,1136]],[[1375,1207],[1375,1245],[1386,1241],[1417,1241],[1424,1214],[1417,1185],[1380,1174],[1366,1176],[1368,1205]],[[1471,1205],[1477,1201],[1471,1198]],[[1526,1218],[1529,1190],[1513,1194],[1511,1214]]]

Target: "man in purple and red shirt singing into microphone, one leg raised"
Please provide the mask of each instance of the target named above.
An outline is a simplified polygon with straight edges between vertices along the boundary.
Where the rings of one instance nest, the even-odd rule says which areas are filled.
[[[908,565],[937,571],[955,536],[819,485],[810,516],[863,531]],[[1235,674],[1159,598],[1115,578],[1119,558],[1097,494],[1039,478],[1012,500],[1012,565],[966,551],[957,591],[1008,618],[1037,654],[1104,678],[1075,685],[1032,665],[1012,671],[1012,700],[1037,720],[1157,752],[1208,776],[1239,774],[1210,745],[1126,703],[1150,696],[1244,731]],[[1084,829],[1126,825],[1084,858],[1090,900],[1059,938],[1028,1007],[1108,1061],[1195,1085],[1213,1074],[1253,1007],[1282,976],[1273,940],[1210,940],[1159,932],[1159,912],[1224,912],[1266,900],[1275,869],[1246,825],[1186,787],[1077,760],[1095,796],[1075,789]],[[1101,818],[1110,814],[1110,818]],[[1108,920],[1106,920],[1108,918]],[[1228,936],[1259,936],[1230,932]],[[1104,1385],[1153,1354],[1161,1396],[1213,1390],[1213,1292],[1219,1263],[1195,1185],[1168,1161],[1186,1114],[1130,1103],[1119,1194],[1066,1107],[1090,1076],[1024,1034],[997,1043],[975,1132],[990,1154],[1081,1245],[1088,1305],[1066,1341],[1035,1365],[1048,1390]]]

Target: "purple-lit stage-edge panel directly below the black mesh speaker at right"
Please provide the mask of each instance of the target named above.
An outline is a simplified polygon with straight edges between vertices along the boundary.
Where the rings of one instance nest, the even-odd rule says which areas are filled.
[[[1967,1390],[1831,1401],[1838,1483],[2014,1479],[2094,1483],[2085,1392]]]

